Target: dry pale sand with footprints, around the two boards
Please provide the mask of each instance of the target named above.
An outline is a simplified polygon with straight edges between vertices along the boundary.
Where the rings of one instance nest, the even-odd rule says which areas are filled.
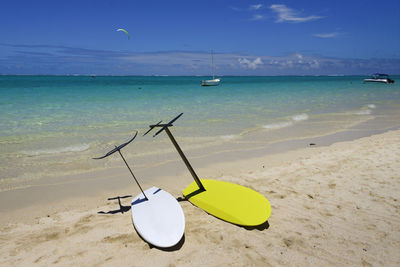
[[[3,209],[0,265],[400,265],[400,131],[326,147],[244,156],[197,172],[266,196],[272,206],[268,224],[246,229],[181,201],[184,239],[169,250],[152,248],[135,232],[130,211],[122,213],[116,200],[107,201],[137,194],[132,184],[95,196],[80,194],[57,203]],[[159,182],[178,198],[191,179],[180,169],[174,179]],[[129,206],[130,198],[121,201]]]

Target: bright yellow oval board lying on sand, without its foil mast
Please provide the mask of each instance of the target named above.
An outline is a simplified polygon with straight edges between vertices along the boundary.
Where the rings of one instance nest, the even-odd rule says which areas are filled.
[[[243,226],[265,223],[271,215],[271,205],[260,193],[229,182],[200,179],[205,191],[196,182],[183,190],[192,204],[224,221]]]

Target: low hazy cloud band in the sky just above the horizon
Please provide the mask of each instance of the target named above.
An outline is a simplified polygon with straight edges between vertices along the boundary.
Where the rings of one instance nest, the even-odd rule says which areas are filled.
[[[52,45],[0,44],[0,74],[209,75],[208,51],[108,51]],[[45,52],[44,52],[45,51]],[[399,74],[400,59],[344,59],[321,55],[286,56],[216,53],[217,75]]]

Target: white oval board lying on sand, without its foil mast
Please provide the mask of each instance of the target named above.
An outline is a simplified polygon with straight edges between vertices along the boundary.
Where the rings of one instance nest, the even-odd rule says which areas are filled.
[[[161,248],[176,245],[185,232],[185,215],[181,205],[168,192],[151,187],[132,200],[132,221],[138,234]]]

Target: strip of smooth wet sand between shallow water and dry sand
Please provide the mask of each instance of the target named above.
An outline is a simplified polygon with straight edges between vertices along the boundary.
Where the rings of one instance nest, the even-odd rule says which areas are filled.
[[[255,144],[252,144],[251,148],[248,148],[248,142],[227,142],[215,146],[218,147],[218,150],[216,150],[215,147],[211,147],[214,148],[214,150],[211,149],[211,152],[210,147],[206,147],[205,149],[195,148],[186,151],[185,147],[182,146],[182,149],[195,171],[198,172],[200,177],[203,177],[202,172],[205,171],[207,173],[206,169],[213,165],[224,166],[229,165],[227,163],[230,161],[246,162],[249,160],[257,160],[265,156],[274,157],[278,155],[279,157],[281,154],[296,154],[302,149],[328,147],[335,143],[354,141],[360,138],[400,129],[398,126],[375,130],[371,128],[373,127],[371,127],[370,121],[365,121],[346,130],[328,135],[284,140],[275,143],[255,142]],[[169,140],[166,141],[169,142]],[[313,144],[313,146],[311,147],[310,144]],[[232,149],[232,147],[234,148]],[[150,165],[144,164],[144,161],[148,160],[150,157],[156,157],[155,163]],[[133,166],[133,171],[140,183],[145,186],[150,186],[153,182],[156,184],[161,182],[161,185],[172,184],[175,179],[174,177],[182,176],[189,177],[189,179],[186,179],[186,184],[191,182],[189,172],[174,149],[172,152],[141,157],[138,161],[135,157],[127,157],[127,160],[128,163]],[[111,190],[126,191],[125,188],[129,188],[132,192],[138,192],[138,190],[136,190],[136,185],[132,183],[132,177],[130,177],[122,161],[118,159],[117,163],[115,163],[114,160],[112,163],[113,166],[108,168],[28,180],[27,185],[20,183],[17,188],[1,191],[0,213],[27,209],[35,205],[43,205],[47,201],[53,203],[68,203],[68,199],[84,199],[86,196],[96,198],[96,195],[105,194]],[[139,167],[135,168],[135,166]],[[197,171],[197,169],[199,169],[199,171]],[[224,171],[221,170],[221,173],[223,172]],[[167,180],[168,182],[162,182],[162,180]],[[183,188],[184,185],[182,185],[180,190],[177,188],[171,189],[177,189],[178,195],[180,195],[180,191],[183,190]],[[33,199],[27,201],[26,195],[33,196]],[[16,201],[10,203],[8,201],[9,199],[14,199]],[[2,221],[3,220],[0,219],[0,224]]]

